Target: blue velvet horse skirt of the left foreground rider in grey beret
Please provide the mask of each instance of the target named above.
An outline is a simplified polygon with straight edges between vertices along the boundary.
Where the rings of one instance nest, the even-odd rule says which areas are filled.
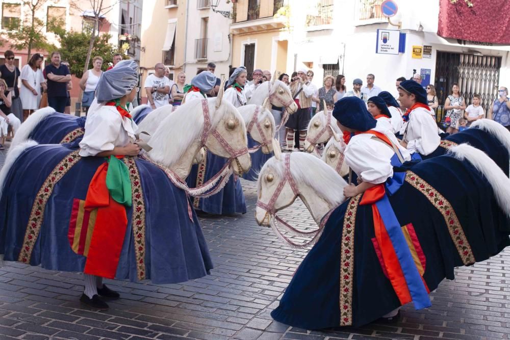
[[[70,167],[53,186],[39,232],[27,233],[29,223],[35,218],[31,214],[34,202],[40,199],[38,191],[53,176],[56,166],[69,159],[74,150],[63,145],[38,145],[23,151],[15,160],[0,199],[0,254],[4,254],[5,260],[19,260],[28,237],[33,242],[31,256],[26,260],[30,265],[58,271],[84,270],[86,258],[73,252],[68,240],[72,203],[74,199],[85,200],[89,182],[105,159],[86,157]],[[138,280],[140,269],[136,258],[140,251],[145,264],[143,278],[154,283],[183,282],[207,275],[213,264],[193,209],[192,219],[188,214],[185,192],[175,188],[153,164],[140,159],[134,162],[140,176],[137,185],[142,190],[133,199],[143,197],[145,212],[145,218],[137,220],[137,226],[144,224],[144,228],[136,238],[145,242],[143,249],[135,242],[133,208],[126,207],[128,224],[116,278]],[[67,167],[62,165],[62,169]]]

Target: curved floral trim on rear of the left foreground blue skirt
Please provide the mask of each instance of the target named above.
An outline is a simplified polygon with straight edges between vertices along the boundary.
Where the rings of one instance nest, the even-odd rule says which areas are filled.
[[[46,202],[53,193],[53,189],[57,182],[72,168],[73,165],[81,160],[81,156],[78,154],[80,150],[69,153],[65,158],[60,161],[59,164],[49,173],[48,177],[44,180],[41,189],[35,197],[34,204],[32,205],[32,211],[30,212],[29,222],[27,224],[27,230],[25,231],[25,237],[21,251],[19,252],[18,261],[22,263],[29,263],[34,245],[41,231],[41,224],[44,220],[44,208]]]

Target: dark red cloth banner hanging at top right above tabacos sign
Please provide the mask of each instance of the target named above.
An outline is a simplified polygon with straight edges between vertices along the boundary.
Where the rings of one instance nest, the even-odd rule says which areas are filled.
[[[464,0],[455,4],[440,0],[438,35],[475,45],[477,42],[510,44],[510,1],[471,2],[473,7],[468,7]]]

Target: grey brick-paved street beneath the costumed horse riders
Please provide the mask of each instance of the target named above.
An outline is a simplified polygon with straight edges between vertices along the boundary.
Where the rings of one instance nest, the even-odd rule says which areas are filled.
[[[0,167],[5,151],[0,151]],[[0,268],[0,339],[509,339],[510,251],[458,268],[431,294],[432,307],[402,308],[395,325],[308,331],[271,319],[307,250],[282,244],[253,218],[253,182],[243,181],[246,215],[200,218],[213,256],[211,275],[154,285],[106,280],[121,292],[99,312],[80,305],[82,275],[20,263]],[[1,214],[2,212],[0,212]],[[301,202],[281,215],[293,225],[312,225]]]

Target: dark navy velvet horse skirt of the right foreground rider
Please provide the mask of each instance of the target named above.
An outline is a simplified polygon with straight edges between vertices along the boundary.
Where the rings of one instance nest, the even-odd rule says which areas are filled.
[[[419,182],[405,181],[389,199],[399,224],[411,223],[414,228],[424,255],[423,279],[430,291],[444,278],[453,279],[454,268],[463,266],[467,256],[473,259],[468,263],[483,261],[510,245],[510,221],[486,178],[469,163],[443,155],[422,161],[411,171],[432,189],[422,192],[417,189]],[[435,191],[446,201],[430,200],[427,196]],[[460,229],[451,227],[452,210]],[[344,234],[344,219],[352,216],[353,235]],[[359,205],[351,198],[338,206],[298,267],[279,306],[272,311],[274,320],[304,329],[359,327],[399,307],[373,242],[373,225],[371,205]],[[459,230],[463,237],[454,242],[453,235]],[[349,249],[346,244],[352,239]],[[460,241],[470,248],[463,250],[458,246]],[[352,273],[345,270],[348,266],[353,266]]]

